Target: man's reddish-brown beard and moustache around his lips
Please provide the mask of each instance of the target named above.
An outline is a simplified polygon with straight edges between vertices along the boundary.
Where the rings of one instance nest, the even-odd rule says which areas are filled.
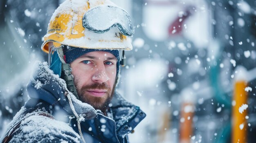
[[[94,83],[91,85],[85,85],[85,86],[82,86],[81,88],[78,88],[79,86],[77,85],[76,82],[74,84],[75,84],[79,99],[82,102],[88,103],[92,107],[94,107],[96,110],[101,110],[101,112],[106,114],[108,105],[114,95],[116,84],[114,84],[112,89],[105,82],[102,84]],[[87,90],[92,90],[92,89],[107,90],[107,92],[106,92],[106,95],[104,95],[103,97],[94,97],[86,94]]]

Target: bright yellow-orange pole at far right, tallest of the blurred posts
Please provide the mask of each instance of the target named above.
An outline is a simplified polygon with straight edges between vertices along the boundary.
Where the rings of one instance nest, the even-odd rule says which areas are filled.
[[[239,108],[243,104],[247,104],[247,92],[245,88],[247,86],[246,81],[236,81],[234,86],[233,97],[233,110],[232,110],[232,143],[246,143],[247,142],[247,110],[239,112]]]

